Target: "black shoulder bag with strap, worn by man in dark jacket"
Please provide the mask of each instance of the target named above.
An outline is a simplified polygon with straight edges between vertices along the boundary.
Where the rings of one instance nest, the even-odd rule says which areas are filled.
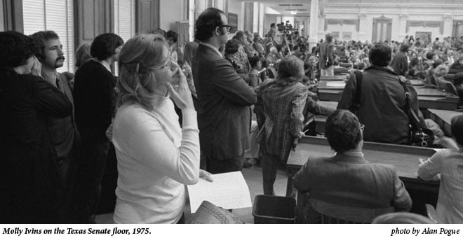
[[[410,121],[410,144],[412,146],[430,147],[434,142],[434,133],[422,125],[420,118],[417,113],[412,109],[412,100],[408,87],[405,84],[405,77],[398,77],[399,83],[401,83],[403,90],[405,90],[405,108],[404,111],[407,113],[408,120]]]

